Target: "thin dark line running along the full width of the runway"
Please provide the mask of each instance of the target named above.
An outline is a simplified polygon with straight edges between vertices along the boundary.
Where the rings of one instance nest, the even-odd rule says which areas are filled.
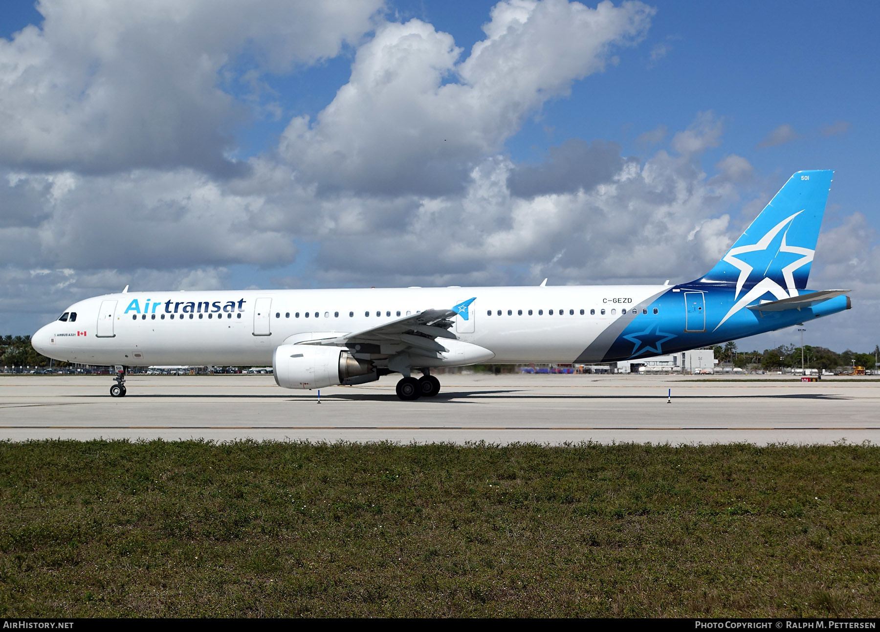
[[[0,430],[880,430],[880,426],[0,426]]]

